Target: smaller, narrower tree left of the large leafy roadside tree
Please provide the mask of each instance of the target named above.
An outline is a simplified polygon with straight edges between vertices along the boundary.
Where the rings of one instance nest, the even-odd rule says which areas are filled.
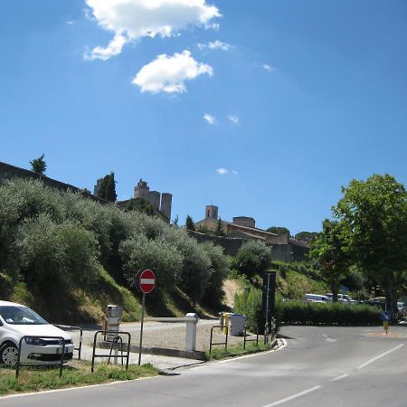
[[[326,219],[322,222],[322,232],[311,243],[309,251],[309,255],[318,261],[324,279],[332,289],[334,302],[337,300],[341,279],[346,277],[348,271],[343,233],[340,222]]]

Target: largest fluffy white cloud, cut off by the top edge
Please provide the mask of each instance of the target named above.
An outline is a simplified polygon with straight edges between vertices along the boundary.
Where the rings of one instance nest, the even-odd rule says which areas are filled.
[[[219,9],[206,0],[86,0],[98,24],[125,43],[142,37],[168,37],[190,25],[211,27]],[[106,60],[121,52],[123,44],[96,47],[88,59]]]

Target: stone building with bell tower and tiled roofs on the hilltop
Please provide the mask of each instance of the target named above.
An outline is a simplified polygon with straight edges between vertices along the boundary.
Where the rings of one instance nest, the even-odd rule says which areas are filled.
[[[195,227],[205,227],[215,231],[219,222],[218,207],[207,205],[205,217],[202,221],[195,222]],[[232,222],[221,220],[223,232],[227,238],[237,238],[244,241],[263,241],[272,248],[273,260],[299,261],[304,260],[309,251],[308,243],[297,241],[289,236],[289,233],[278,235],[256,228],[256,221],[248,216],[235,216]]]

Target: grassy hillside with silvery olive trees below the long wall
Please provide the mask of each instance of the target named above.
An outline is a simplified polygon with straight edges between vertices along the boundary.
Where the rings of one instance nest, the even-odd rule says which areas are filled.
[[[184,229],[21,179],[0,185],[0,208],[0,298],[53,322],[99,321],[111,302],[137,319],[135,277],[147,268],[156,272],[150,314],[219,306],[230,260]]]

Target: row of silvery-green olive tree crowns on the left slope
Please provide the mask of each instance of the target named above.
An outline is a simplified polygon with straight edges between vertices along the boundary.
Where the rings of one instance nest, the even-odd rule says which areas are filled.
[[[222,292],[229,268],[222,250],[159,218],[24,180],[0,184],[0,207],[2,292],[20,278],[45,301],[59,295],[55,287],[66,293],[97,287],[103,269],[132,284],[147,268],[156,272],[157,292],[178,285],[195,302],[209,288]]]

